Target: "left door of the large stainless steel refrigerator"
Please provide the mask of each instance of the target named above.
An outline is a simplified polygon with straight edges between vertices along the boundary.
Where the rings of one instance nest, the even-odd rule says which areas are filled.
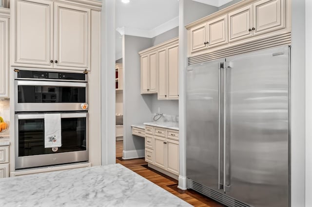
[[[219,161],[219,77],[215,60],[188,67],[186,85],[186,175],[214,190],[222,189]],[[222,135],[221,135],[222,136]],[[222,147],[223,149],[223,147]],[[223,160],[223,156],[221,157]]]

